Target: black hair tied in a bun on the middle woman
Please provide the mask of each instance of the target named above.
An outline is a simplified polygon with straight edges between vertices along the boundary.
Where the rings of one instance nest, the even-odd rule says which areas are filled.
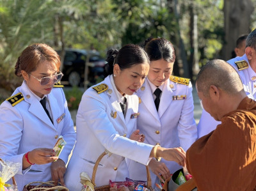
[[[107,52],[108,65],[106,65],[106,71],[108,75],[113,74],[113,68],[115,64],[118,64],[120,70],[131,68],[132,65],[141,63],[150,63],[147,53],[138,45],[128,44],[118,50],[108,50]],[[115,63],[114,63],[115,62]]]

